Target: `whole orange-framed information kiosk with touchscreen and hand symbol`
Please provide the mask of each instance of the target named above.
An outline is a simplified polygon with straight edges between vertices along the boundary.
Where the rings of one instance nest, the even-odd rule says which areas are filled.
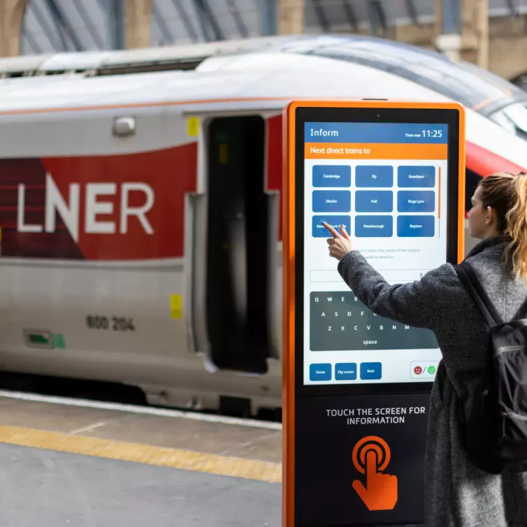
[[[283,527],[422,523],[438,342],[354,296],[322,222],[390,283],[461,261],[463,108],[295,101],[284,117]]]

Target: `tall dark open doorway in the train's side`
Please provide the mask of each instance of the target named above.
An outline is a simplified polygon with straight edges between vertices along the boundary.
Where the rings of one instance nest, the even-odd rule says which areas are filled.
[[[266,124],[218,117],[208,127],[206,333],[218,368],[266,373],[270,356],[270,196]]]

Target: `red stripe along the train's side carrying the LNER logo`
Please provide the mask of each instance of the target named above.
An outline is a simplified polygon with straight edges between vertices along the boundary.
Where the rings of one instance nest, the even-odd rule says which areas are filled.
[[[282,240],[282,116],[271,117],[267,126],[266,191],[280,194],[277,235]],[[466,166],[482,176],[524,169],[470,142]],[[66,218],[64,210],[46,215],[47,174],[58,192],[50,201],[52,208],[58,210],[62,200]],[[197,143],[137,154],[0,159],[2,254],[103,261],[182,257],[185,194],[196,192],[196,178]],[[123,209],[124,196],[129,210],[145,204],[145,192],[133,190],[141,184],[154,195],[154,205],[144,214],[151,229],[145,229],[138,215],[127,215],[126,206]],[[20,185],[24,185],[22,217],[17,215]],[[75,192],[77,208],[72,203]],[[96,206],[89,210],[87,203]],[[25,232],[20,231],[21,223]]]

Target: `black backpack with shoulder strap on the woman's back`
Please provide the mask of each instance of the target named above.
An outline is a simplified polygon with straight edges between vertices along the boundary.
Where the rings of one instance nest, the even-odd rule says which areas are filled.
[[[454,268],[491,331],[470,415],[459,400],[461,443],[484,472],[527,471],[527,319],[503,322],[470,264]]]

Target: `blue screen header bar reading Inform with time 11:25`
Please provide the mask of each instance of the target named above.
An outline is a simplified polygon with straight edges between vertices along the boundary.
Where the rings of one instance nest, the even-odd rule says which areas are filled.
[[[393,122],[306,122],[304,140],[306,143],[446,145],[448,125]]]

